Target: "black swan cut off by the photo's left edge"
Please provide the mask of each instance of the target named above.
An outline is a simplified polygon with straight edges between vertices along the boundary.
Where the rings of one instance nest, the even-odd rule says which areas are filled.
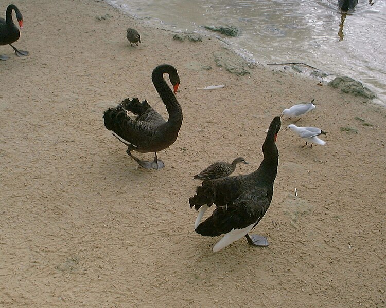
[[[7,7],[7,11],[5,12],[5,19],[0,18],[0,45],[11,45],[13,42],[19,40],[20,31],[17,29],[16,25],[12,20],[12,10],[16,13],[17,22],[19,22],[20,29],[23,28],[23,15],[19,11],[19,9],[14,5],[10,4]],[[19,50],[16,47],[12,46],[17,56],[26,56],[28,55],[28,51]],[[0,55],[0,60],[7,60],[7,55]]]

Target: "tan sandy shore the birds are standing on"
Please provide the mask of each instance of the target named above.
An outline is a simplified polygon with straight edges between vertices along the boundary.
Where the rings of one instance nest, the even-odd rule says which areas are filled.
[[[0,306],[385,307],[384,107],[262,66],[237,76],[216,65],[237,56],[214,36],[173,40],[104,2],[14,4],[14,46],[29,55],[0,46]],[[165,168],[146,170],[102,115],[138,97],[167,117],[151,82],[163,63],[179,72],[184,121],[159,152]],[[238,156],[250,165],[235,174],[257,169],[273,117],[311,99],[297,125],[326,131],[326,145],[302,148],[283,119],[272,203],[254,229],[270,246],[213,253],[219,238],[194,231],[192,177]]]

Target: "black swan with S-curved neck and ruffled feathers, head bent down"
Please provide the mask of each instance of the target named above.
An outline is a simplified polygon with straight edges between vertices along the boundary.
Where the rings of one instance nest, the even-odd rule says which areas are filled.
[[[128,146],[127,153],[140,166],[146,169],[161,169],[165,165],[157,159],[157,152],[166,149],[177,140],[182,125],[182,109],[173,91],[164,80],[163,74],[169,74],[174,93],[180,84],[176,68],[163,64],[157,66],[151,75],[154,87],[169,113],[168,121],[155,111],[145,100],[142,103],[137,98],[125,99],[116,108],[104,112],[104,126],[113,131],[115,137]],[[137,115],[136,119],[129,117],[128,111]],[[131,151],[141,153],[154,152],[152,162],[142,161],[131,154]]]

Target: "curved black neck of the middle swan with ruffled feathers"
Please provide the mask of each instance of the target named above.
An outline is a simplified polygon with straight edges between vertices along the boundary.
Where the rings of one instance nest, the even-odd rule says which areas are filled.
[[[176,95],[174,95],[166,83],[163,76],[164,73],[168,73],[169,75],[176,74],[176,70],[171,65],[160,65],[153,70],[151,79],[169,113],[168,123],[180,128],[182,124],[182,109],[177,101]]]

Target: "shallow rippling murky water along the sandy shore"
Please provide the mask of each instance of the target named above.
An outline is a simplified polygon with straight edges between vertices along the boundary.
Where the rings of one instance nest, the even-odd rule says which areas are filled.
[[[386,103],[386,2],[359,0],[343,13],[336,0],[108,0],[148,23],[205,32],[202,25],[234,25],[226,38],[262,64],[303,62],[361,81]]]

